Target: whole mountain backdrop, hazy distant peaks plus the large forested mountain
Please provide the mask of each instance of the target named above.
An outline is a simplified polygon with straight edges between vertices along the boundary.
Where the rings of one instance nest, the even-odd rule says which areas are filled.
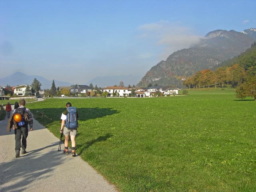
[[[162,86],[174,86],[182,88],[182,79],[192,76],[204,69],[215,69],[218,66],[242,52],[245,52],[256,41],[256,28],[236,32],[234,30],[214,30],[206,34],[198,44],[190,48],[178,50],[172,53],[164,61],[153,66],[140,80],[138,76],[104,76],[96,77],[85,83],[92,83],[97,87],[119,85],[122,81],[125,86],[128,84],[147,87],[148,84]],[[50,89],[52,80],[41,76],[28,76],[16,72],[10,76],[0,78],[0,86],[18,86],[21,84],[31,85],[34,78],[41,84],[41,89]],[[56,87],[71,86],[69,82],[62,82],[54,79]],[[139,83],[138,83],[139,82]]]

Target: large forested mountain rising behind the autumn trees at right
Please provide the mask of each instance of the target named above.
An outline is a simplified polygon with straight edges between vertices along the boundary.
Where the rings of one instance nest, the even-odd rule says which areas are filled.
[[[153,66],[138,83],[182,88],[182,79],[204,69],[213,69],[222,62],[238,56],[256,41],[256,29],[243,32],[215,30],[206,34],[196,45],[172,53],[166,61]]]

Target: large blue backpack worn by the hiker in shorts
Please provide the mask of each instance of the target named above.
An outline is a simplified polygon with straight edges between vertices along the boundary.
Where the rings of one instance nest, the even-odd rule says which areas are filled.
[[[65,126],[68,129],[77,129],[78,128],[78,114],[75,107],[67,108],[68,114],[66,114]]]

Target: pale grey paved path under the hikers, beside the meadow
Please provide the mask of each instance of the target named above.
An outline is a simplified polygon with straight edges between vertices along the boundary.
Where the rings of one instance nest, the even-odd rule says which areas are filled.
[[[14,108],[12,106],[12,108]],[[14,130],[0,121],[0,192],[117,192],[79,156],[58,152],[59,138],[34,120],[27,154],[15,158]]]

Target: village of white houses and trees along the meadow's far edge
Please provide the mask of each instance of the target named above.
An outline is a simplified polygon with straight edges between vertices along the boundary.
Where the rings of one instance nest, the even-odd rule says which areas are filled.
[[[30,88],[31,89],[31,88]],[[37,94],[28,92],[28,85],[18,85],[11,87],[11,90],[0,86],[0,94],[2,100],[9,100],[17,97],[34,96],[34,97],[50,97],[46,95],[45,90],[38,91]],[[174,96],[178,95],[179,88],[172,86],[150,86],[148,88],[125,87],[125,86],[107,86],[98,90],[88,85],[75,86],[58,86],[56,88],[56,96],[54,97],[157,97],[157,96]]]

